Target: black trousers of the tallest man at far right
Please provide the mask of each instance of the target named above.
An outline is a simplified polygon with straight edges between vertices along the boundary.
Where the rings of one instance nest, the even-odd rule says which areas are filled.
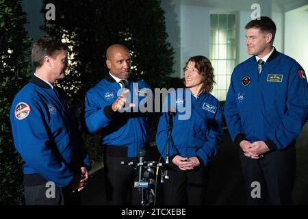
[[[272,151],[261,159],[248,158],[244,156],[242,149],[239,150],[246,183],[247,204],[292,205],[296,173],[295,146],[285,151]],[[260,191],[259,196],[256,196],[258,185]]]

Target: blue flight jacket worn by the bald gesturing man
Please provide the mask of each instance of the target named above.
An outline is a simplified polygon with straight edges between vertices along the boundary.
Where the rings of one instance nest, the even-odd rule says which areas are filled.
[[[122,94],[122,88],[109,74],[88,90],[85,101],[86,126],[92,134],[101,133],[101,144],[127,146],[127,156],[137,157],[140,149],[149,142],[150,114],[138,110],[140,104],[146,105],[146,89],[149,86],[144,81],[130,79],[128,88],[129,101],[135,103],[136,107],[128,107],[131,112],[123,113],[112,110],[112,103]]]

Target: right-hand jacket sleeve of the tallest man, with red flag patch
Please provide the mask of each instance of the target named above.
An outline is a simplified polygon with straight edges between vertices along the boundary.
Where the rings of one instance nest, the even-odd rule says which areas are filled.
[[[307,79],[301,75],[303,70],[298,64],[290,70],[286,112],[278,127],[267,136],[266,144],[271,150],[284,149],[300,134],[307,121],[308,87]]]

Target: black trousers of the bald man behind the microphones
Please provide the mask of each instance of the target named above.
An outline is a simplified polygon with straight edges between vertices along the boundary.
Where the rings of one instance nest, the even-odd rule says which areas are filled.
[[[136,164],[138,159],[128,158],[126,153],[123,147],[105,146],[104,172],[107,205],[141,204],[139,190],[134,188],[134,181],[138,181],[137,170],[120,164],[120,162]]]

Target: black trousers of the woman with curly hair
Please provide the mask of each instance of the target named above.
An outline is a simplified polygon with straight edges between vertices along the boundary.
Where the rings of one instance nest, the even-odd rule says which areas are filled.
[[[195,167],[180,170],[175,164],[168,171],[169,179],[164,179],[165,205],[203,205],[208,183],[208,168]]]

